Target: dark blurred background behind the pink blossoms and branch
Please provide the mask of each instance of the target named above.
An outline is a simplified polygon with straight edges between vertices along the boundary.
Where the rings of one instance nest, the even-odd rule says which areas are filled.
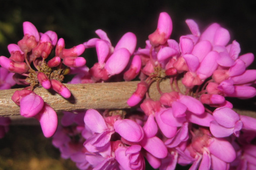
[[[0,0],[0,55],[9,57],[7,45],[23,37],[22,23],[32,22],[40,32],[55,31],[66,48],[96,37],[94,31],[107,32],[113,45],[128,31],[137,36],[138,47],[145,46],[148,34],[157,27],[161,11],[173,21],[172,39],[189,34],[185,20],[197,21],[201,32],[212,22],[220,23],[237,40],[241,54],[256,54],[255,1],[202,0]],[[86,50],[87,65],[96,61],[95,50]],[[255,62],[250,68],[256,68]],[[236,102],[236,107],[253,107],[255,99]],[[245,106],[246,105],[246,106]],[[11,126],[0,139],[0,170],[75,170],[71,161],[61,159],[58,150],[45,139],[38,126]],[[180,169],[178,167],[177,169]]]

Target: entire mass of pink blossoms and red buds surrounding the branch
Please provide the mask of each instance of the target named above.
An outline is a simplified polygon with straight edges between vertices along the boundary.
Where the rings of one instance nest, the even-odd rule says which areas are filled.
[[[172,40],[171,17],[160,13],[145,48],[135,51],[137,38],[131,32],[113,46],[99,29],[99,38],[65,49],[53,31],[38,33],[25,22],[23,39],[9,45],[11,57],[1,56],[0,65],[15,72],[17,84],[29,85],[12,96],[21,115],[37,118],[45,136],[54,134],[52,143],[61,156],[81,170],[145,170],[145,159],[160,170],[174,170],[177,164],[192,164],[189,170],[254,170],[256,119],[236,113],[227,101],[256,96],[256,70],[247,69],[254,56],[240,55],[239,43],[229,44],[229,31],[217,23],[202,33],[194,20],[186,24],[191,34]],[[54,46],[55,57],[46,62]],[[92,68],[79,57],[85,48],[96,48],[98,62]],[[141,82],[127,101],[134,108],[64,112],[57,128],[55,111],[32,90],[41,85],[69,98],[61,83],[65,74],[74,74],[70,83],[138,76]],[[172,92],[160,90],[163,79],[170,80]],[[152,82],[160,93],[157,101],[148,95]]]

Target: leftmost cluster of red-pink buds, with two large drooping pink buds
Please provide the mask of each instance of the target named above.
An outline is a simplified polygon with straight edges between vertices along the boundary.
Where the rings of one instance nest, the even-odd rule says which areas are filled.
[[[0,65],[12,72],[13,80],[18,85],[26,86],[12,96],[12,100],[20,106],[20,114],[38,119],[44,135],[50,137],[58,125],[56,112],[33,89],[38,86],[52,88],[64,98],[69,98],[71,93],[61,82],[71,67],[85,65],[84,57],[79,57],[85,47],[81,44],[66,49],[64,39],[58,39],[54,31],[39,33],[30,22],[23,23],[23,32],[22,40],[8,45],[11,56],[1,56]],[[55,56],[49,58],[54,47]]]

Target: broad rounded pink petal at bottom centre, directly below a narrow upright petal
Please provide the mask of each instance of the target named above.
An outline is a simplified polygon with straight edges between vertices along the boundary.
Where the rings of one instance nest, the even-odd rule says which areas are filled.
[[[157,158],[165,158],[167,156],[166,145],[158,137],[154,136],[152,138],[144,138],[140,142],[141,146]]]

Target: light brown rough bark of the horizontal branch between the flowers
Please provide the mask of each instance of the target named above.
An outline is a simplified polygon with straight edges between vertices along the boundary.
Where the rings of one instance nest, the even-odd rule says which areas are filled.
[[[129,108],[126,101],[137,88],[138,81],[112,82],[95,84],[65,84],[72,96],[65,99],[55,91],[44,88],[35,88],[34,92],[40,95],[55,111],[72,111],[78,109],[124,109]],[[160,97],[156,82],[149,88],[149,96],[157,100]],[[180,87],[182,87],[180,85]],[[20,89],[0,91],[0,116],[19,115],[20,107],[11,99],[12,94]],[[160,82],[160,90],[170,92],[169,79]],[[185,89],[182,88],[184,91]]]

